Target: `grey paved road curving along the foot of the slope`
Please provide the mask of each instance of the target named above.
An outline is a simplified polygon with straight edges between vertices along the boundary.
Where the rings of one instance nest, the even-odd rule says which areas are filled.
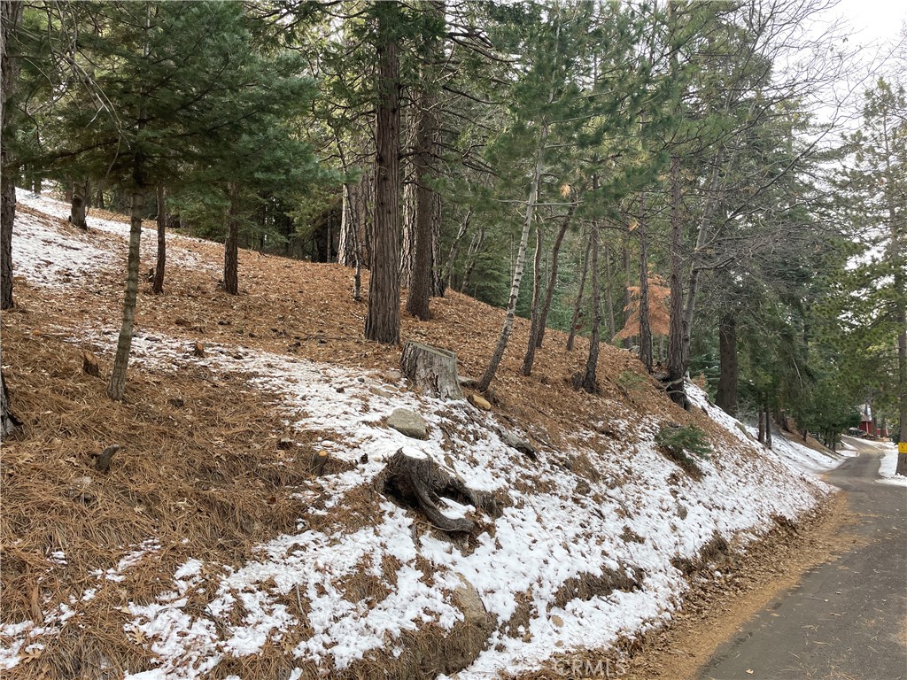
[[[775,597],[699,680],[907,680],[907,489],[874,481],[880,459],[863,444],[826,476],[863,539]]]

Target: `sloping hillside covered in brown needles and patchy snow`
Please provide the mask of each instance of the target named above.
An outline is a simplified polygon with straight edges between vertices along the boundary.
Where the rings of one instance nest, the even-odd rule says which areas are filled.
[[[670,403],[624,350],[602,347],[598,395],[569,386],[588,345],[569,353],[553,331],[522,377],[522,320],[491,413],[414,393],[400,348],[362,340],[350,270],[242,252],[241,294],[228,296],[221,248],[174,235],[165,294],[140,292],[127,401],[111,403],[82,351],[103,377],[128,227],[93,216],[81,232],[63,204],[20,197],[17,308],[3,318],[24,421],[0,478],[5,677],[519,672],[658,627],[710,555],[828,491],[695,387],[690,413]],[[480,374],[502,311],[453,292],[432,305],[402,336]],[[427,440],[386,426],[398,407],[424,417]],[[701,478],[655,445],[671,423],[707,433]],[[114,443],[110,471],[96,471]],[[401,449],[493,500],[446,503],[475,521],[470,534],[435,529],[385,487]],[[330,462],[314,477],[319,450]]]

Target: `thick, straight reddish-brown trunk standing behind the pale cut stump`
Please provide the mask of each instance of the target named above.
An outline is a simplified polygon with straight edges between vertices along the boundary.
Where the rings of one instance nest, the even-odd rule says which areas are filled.
[[[400,64],[392,34],[397,2],[374,5],[378,17],[378,102],[375,112],[375,234],[368,290],[366,339],[400,342],[399,246]]]

